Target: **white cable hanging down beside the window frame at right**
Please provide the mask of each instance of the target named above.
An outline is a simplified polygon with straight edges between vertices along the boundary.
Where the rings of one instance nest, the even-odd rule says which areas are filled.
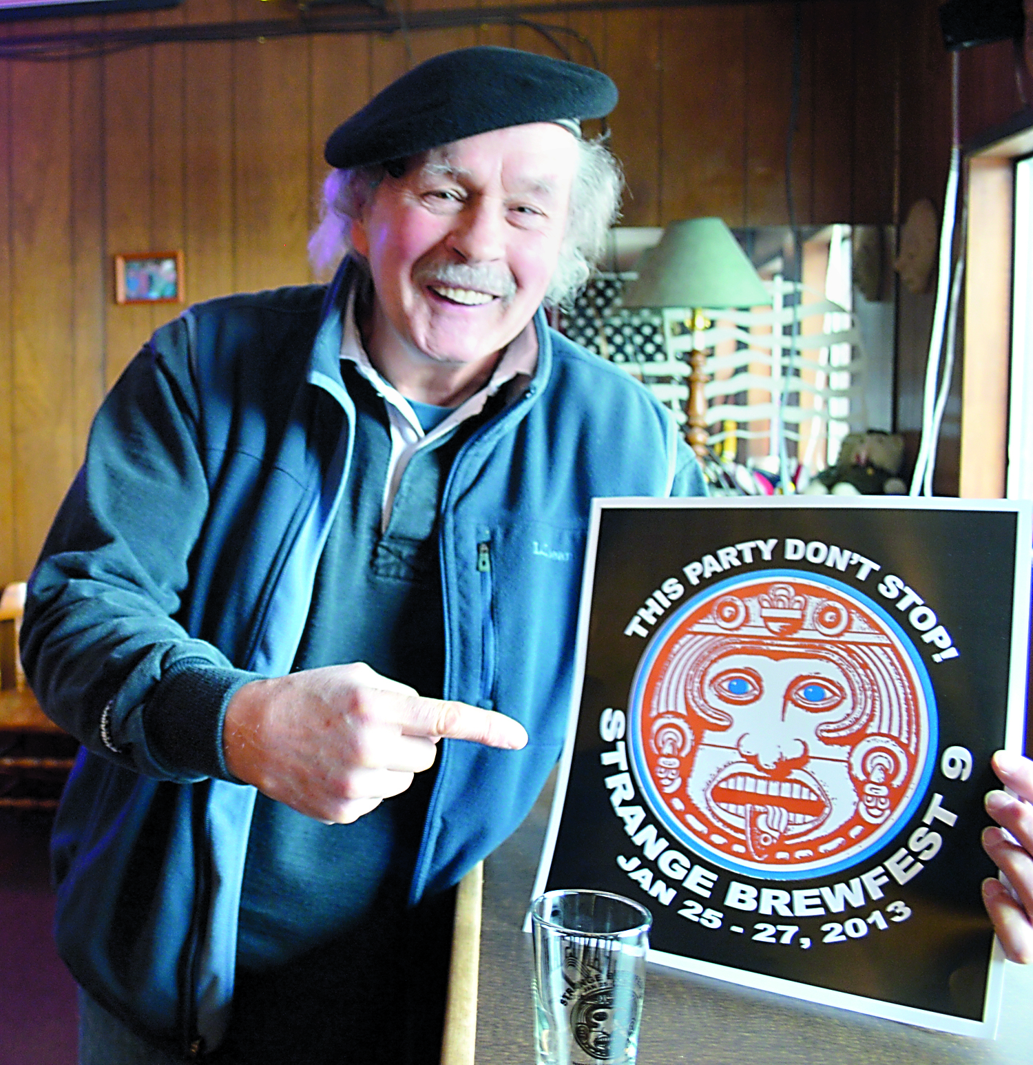
[[[957,195],[961,184],[962,147],[958,101],[958,56],[951,54],[951,163],[947,176],[947,192],[944,197],[944,219],[939,236],[939,264],[936,276],[936,305],[933,310],[933,329],[929,338],[929,359],[925,363],[925,389],[922,394],[922,437],[915,461],[915,473],[911,482],[911,495],[933,494],[933,472],[936,466],[936,444],[939,426],[950,391],[951,374],[954,368],[954,342],[956,339],[957,290],[961,289],[963,271],[951,276],[951,259],[954,246],[954,223],[957,217]],[[956,285],[956,290],[952,289]],[[948,330],[948,317],[951,318]],[[945,333],[947,350],[944,350]],[[944,357],[942,380],[940,380],[940,357]],[[938,413],[937,413],[938,411]]]

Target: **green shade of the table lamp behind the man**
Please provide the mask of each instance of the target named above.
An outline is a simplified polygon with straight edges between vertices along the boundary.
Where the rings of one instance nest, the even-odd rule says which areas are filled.
[[[721,218],[672,222],[639,259],[624,307],[759,307],[771,296]]]

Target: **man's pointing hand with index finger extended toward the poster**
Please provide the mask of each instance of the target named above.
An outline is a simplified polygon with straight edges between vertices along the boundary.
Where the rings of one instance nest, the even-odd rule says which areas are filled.
[[[361,662],[244,685],[223,730],[226,765],[270,799],[347,824],[433,765],[439,739],[519,750],[523,725],[494,710],[424,699]]]

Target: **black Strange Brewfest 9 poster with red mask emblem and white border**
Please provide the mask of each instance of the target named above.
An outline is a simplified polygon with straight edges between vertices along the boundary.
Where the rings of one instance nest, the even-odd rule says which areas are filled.
[[[536,894],[642,903],[661,964],[991,1036],[1030,542],[1003,501],[595,501]]]

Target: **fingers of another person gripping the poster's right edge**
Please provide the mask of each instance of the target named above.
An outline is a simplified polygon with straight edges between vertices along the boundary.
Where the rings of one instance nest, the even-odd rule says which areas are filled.
[[[1004,953],[1013,962],[1027,963],[1033,961],[1033,761],[998,751],[993,766],[1015,796],[987,792],[986,812],[1001,828],[984,830],[983,849],[1015,895],[999,880],[985,880],[983,902]]]

